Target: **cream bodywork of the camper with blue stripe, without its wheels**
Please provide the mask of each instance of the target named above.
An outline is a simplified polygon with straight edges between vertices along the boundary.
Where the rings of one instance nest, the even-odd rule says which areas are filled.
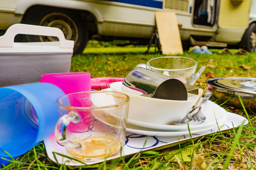
[[[99,35],[150,38],[156,25],[155,11],[167,11],[175,12],[178,24],[182,25],[179,28],[182,40],[198,35],[238,43],[248,23],[256,22],[256,19],[249,21],[251,0],[217,2],[216,24],[209,27],[193,24],[194,0],[0,0],[0,18],[5,18],[0,20],[0,29],[20,23],[29,7],[42,5],[90,12],[95,16]]]

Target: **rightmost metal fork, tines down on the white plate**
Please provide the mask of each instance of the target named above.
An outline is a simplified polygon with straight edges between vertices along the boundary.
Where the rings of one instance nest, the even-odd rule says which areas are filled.
[[[212,90],[206,90],[202,103],[200,104],[200,106],[194,108],[192,111],[190,111],[189,114],[187,114],[187,119],[205,121],[206,116],[203,114],[202,110],[203,107],[205,106],[206,101],[211,97],[212,94]]]

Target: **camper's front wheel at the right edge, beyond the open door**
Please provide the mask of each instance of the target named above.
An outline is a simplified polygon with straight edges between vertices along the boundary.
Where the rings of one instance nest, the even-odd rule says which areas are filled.
[[[239,48],[245,49],[249,52],[254,52],[256,47],[256,23],[251,23],[246,29],[241,42],[238,44]]]

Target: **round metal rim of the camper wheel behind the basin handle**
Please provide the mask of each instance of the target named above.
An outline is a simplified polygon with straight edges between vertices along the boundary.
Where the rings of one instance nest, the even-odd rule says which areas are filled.
[[[46,15],[40,22],[41,26],[59,28],[63,32],[66,40],[73,40],[75,44],[78,39],[78,29],[75,22],[62,13],[51,13]],[[57,37],[39,36],[41,41],[58,41]]]

